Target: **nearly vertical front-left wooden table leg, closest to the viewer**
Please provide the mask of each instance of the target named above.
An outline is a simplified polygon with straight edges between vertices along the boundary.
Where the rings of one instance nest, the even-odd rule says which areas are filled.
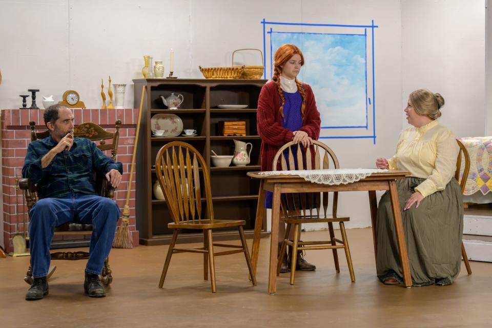
[[[277,290],[278,222],[280,220],[280,184],[275,183],[272,202],[272,232],[270,233],[270,267],[268,272],[268,292]]]

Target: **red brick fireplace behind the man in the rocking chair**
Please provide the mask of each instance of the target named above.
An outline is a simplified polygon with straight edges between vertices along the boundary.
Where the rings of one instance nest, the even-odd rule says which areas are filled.
[[[36,122],[36,131],[45,131],[43,121],[44,110],[32,109],[3,109],[1,110],[2,128],[2,197],[3,197],[3,227],[4,245],[6,252],[12,252],[12,237],[17,232],[23,232],[23,218],[26,222],[27,206],[23,206],[23,196],[20,190],[16,196],[16,179],[22,177],[22,166],[30,142],[29,121]],[[114,122],[120,119],[119,144],[117,160],[123,163],[123,178],[115,192],[115,200],[122,210],[130,178],[130,167],[135,144],[135,130],[138,109],[73,109],[75,125],[82,122],[94,122],[108,131],[114,131]],[[135,173],[133,175],[135,180]],[[17,206],[18,203],[18,206]],[[130,222],[133,244],[138,245],[138,231],[135,229],[135,181],[132,182],[130,194]],[[121,223],[121,220],[118,224]],[[27,230],[28,224],[26,224]],[[70,240],[73,236],[56,236]],[[79,238],[75,236],[75,238]],[[56,240],[56,239],[54,239]]]

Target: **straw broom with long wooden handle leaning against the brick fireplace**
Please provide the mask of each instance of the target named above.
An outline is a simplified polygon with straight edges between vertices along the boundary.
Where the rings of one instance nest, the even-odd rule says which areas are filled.
[[[121,225],[116,231],[116,236],[114,237],[113,247],[114,248],[133,248],[132,237],[130,230],[128,230],[128,221],[130,220],[130,189],[132,188],[133,180],[133,166],[135,165],[135,156],[137,153],[138,145],[138,134],[140,132],[140,120],[142,118],[142,109],[144,108],[144,97],[145,97],[145,86],[142,87],[142,97],[140,98],[140,110],[138,111],[138,121],[137,121],[137,131],[135,133],[135,145],[133,146],[133,156],[132,156],[132,167],[130,169],[130,179],[128,181],[127,189],[127,200],[125,202],[125,207],[121,213]]]

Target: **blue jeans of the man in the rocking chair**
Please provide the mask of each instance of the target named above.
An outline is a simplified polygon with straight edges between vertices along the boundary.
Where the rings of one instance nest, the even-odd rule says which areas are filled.
[[[31,267],[34,278],[46,277],[50,266],[50,244],[54,229],[74,221],[92,224],[86,272],[100,275],[111,251],[120,210],[110,198],[70,193],[63,198],[39,199],[32,207],[29,222]]]

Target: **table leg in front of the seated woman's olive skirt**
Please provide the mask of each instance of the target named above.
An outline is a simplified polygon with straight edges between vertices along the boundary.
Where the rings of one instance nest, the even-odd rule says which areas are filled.
[[[408,264],[408,253],[406,251],[406,241],[405,234],[403,233],[403,223],[401,221],[400,202],[398,200],[398,191],[396,190],[396,181],[391,180],[388,183],[391,207],[393,210],[393,219],[395,220],[398,251],[400,253],[401,269],[403,271],[403,285],[410,288],[412,286],[412,277],[410,275],[410,266]]]

